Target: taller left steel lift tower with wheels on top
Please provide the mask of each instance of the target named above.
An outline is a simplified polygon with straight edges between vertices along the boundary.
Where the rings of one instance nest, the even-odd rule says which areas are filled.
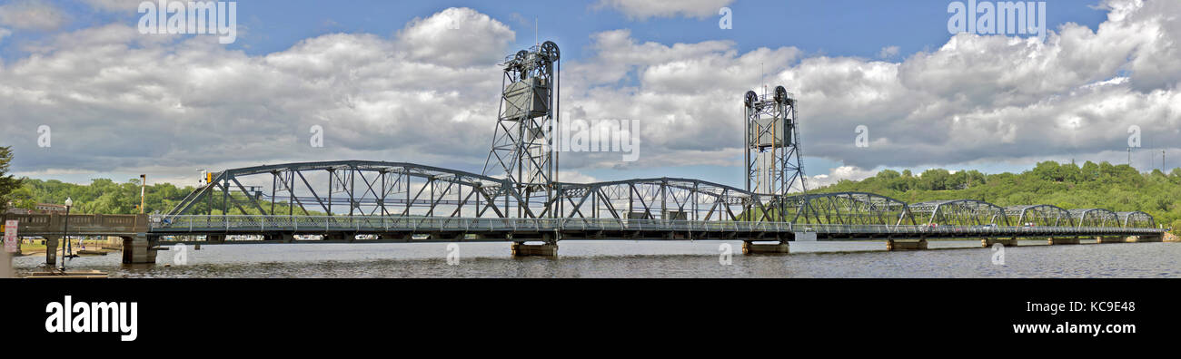
[[[524,206],[541,202],[546,217],[557,217],[557,147],[553,134],[557,129],[559,89],[557,44],[546,41],[504,59],[500,112],[492,149],[484,161],[484,175],[503,174],[524,202],[517,205],[517,217]],[[505,204],[508,206],[509,204]]]

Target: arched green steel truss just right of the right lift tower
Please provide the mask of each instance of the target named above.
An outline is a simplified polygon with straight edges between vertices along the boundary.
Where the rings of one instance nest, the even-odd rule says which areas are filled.
[[[809,193],[800,195],[803,205],[791,220],[795,224],[833,225],[915,225],[906,202],[866,192]]]

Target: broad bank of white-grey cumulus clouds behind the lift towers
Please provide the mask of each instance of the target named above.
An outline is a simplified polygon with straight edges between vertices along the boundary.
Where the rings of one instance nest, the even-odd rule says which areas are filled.
[[[581,58],[562,61],[561,108],[567,119],[638,121],[640,157],[562,154],[563,173],[738,167],[742,95],[764,84],[797,95],[803,153],[840,164],[809,171],[813,185],[882,167],[1111,160],[1133,125],[1144,147],[1177,153],[1181,62],[1170,59],[1181,27],[1162,14],[1181,13],[1181,2],[1103,6],[1096,29],[1066,24],[1045,42],[958,34],[896,61],[594,33]],[[466,8],[392,36],[325,34],[261,55],[213,36],[83,28],[0,64],[0,142],[14,146],[14,169],[38,173],[193,175],[341,159],[478,172],[498,108],[496,64],[514,41],[504,24]],[[53,128],[53,147],[37,147],[40,125]],[[308,146],[313,125],[324,148]],[[861,125],[868,148],[855,146]]]

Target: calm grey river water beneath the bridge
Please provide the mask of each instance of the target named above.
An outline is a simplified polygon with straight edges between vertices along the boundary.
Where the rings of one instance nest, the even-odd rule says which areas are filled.
[[[1094,242],[1094,241],[1091,241]],[[730,244],[732,264],[719,264]],[[267,244],[188,247],[188,264],[124,266],[122,255],[83,257],[74,270],[112,278],[1181,278],[1181,244],[1044,246],[1023,241],[1005,248],[1005,265],[980,241],[931,241],[944,251],[885,252],[885,242],[792,242],[792,254],[742,255],[740,241],[563,241],[557,258],[511,258],[508,244],[459,244],[459,264],[448,265],[446,244]],[[861,252],[873,251],[873,252]],[[18,274],[39,270],[44,255],[17,258]]]

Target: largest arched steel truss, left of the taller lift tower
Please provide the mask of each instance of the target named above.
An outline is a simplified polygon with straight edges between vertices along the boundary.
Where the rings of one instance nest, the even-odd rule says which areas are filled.
[[[406,162],[325,161],[216,173],[169,212],[265,215],[526,217],[503,179]]]

